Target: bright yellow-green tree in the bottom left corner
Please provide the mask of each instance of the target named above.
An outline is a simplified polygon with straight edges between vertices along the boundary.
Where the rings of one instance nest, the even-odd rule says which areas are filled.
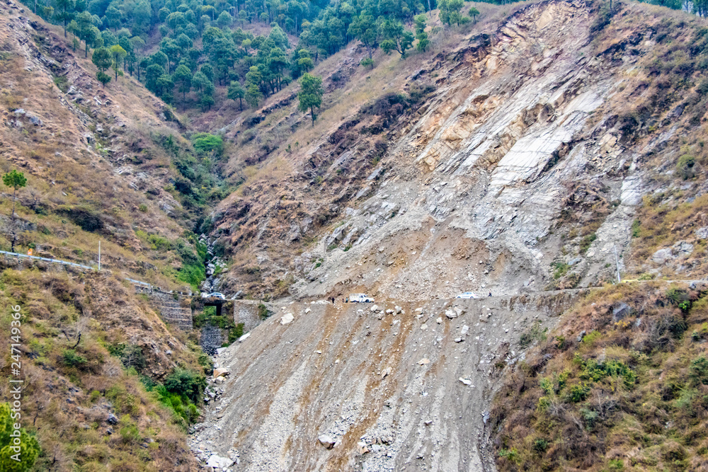
[[[10,404],[0,403],[0,471],[28,472],[40,454],[40,443],[25,428],[20,428],[19,437],[11,436],[18,422],[12,415]]]

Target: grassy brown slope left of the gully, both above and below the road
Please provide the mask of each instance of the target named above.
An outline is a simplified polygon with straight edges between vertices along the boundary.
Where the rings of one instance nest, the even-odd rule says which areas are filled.
[[[16,270],[0,259],[0,332],[9,333],[9,306],[23,313],[22,425],[42,448],[34,470],[192,471],[180,401],[168,408],[141,376],[161,382],[177,367],[202,372],[201,351],[122,277],[185,289],[178,270],[188,260],[203,276],[197,248],[183,238],[200,208],[169,187],[178,178],[173,162],[195,153],[137,81],[101,88],[90,57],[31,14],[29,28],[27,16],[0,6],[0,171],[28,178],[18,191],[16,251],[91,265],[101,241],[102,266],[113,272]],[[61,88],[55,76],[66,79]],[[81,94],[65,93],[72,86]],[[174,146],[164,145],[169,136]],[[9,250],[11,192],[0,192],[0,248]],[[0,360],[4,374],[8,361]],[[0,398],[10,398],[1,384]],[[110,413],[117,425],[106,422]]]

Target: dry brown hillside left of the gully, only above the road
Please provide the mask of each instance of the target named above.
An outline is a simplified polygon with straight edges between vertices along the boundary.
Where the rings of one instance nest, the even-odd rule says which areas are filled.
[[[176,241],[201,207],[190,190],[176,190],[195,185],[178,166],[197,159],[171,110],[134,79],[102,88],[90,59],[51,27],[13,2],[0,8],[0,170],[28,178],[16,249],[88,264],[102,239],[105,268],[164,287],[199,282],[186,268],[177,280],[185,261],[202,266],[195,240]],[[0,246],[9,250],[13,200],[2,192]]]

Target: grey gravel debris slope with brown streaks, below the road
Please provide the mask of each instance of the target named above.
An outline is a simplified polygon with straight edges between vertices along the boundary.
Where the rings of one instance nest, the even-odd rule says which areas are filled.
[[[215,357],[219,395],[191,446],[234,471],[493,470],[501,372],[581,292],[276,305]]]

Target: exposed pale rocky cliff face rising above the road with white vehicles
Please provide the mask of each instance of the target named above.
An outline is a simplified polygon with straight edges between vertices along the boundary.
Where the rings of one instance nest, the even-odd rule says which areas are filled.
[[[277,184],[247,180],[215,213],[237,261],[220,282],[426,299],[587,287],[616,262],[626,270],[642,195],[668,188],[651,159],[673,162],[692,125],[676,97],[636,111],[656,93],[645,67],[659,19],[625,8],[608,26],[598,8],[519,8],[399,78],[403,95],[345,112],[307,149],[288,145],[287,166],[270,165]]]

